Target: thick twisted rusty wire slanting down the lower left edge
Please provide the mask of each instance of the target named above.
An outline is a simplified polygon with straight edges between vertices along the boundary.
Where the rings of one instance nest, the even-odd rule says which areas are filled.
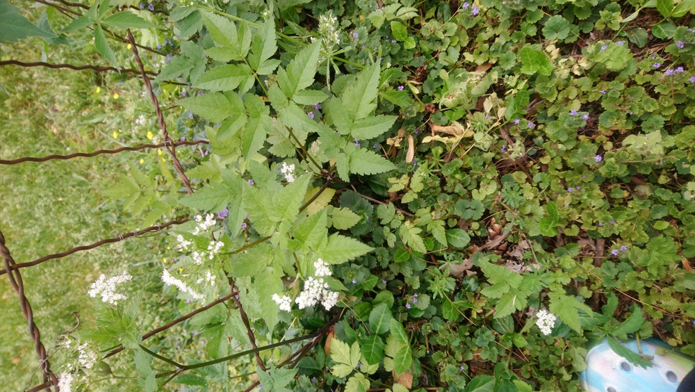
[[[10,250],[8,250],[5,245],[5,236],[2,234],[2,231],[0,231],[0,254],[3,256],[5,272],[10,279],[10,284],[13,286],[13,288],[15,288],[15,291],[17,291],[17,295],[19,295],[19,307],[22,308],[24,318],[26,318],[26,321],[28,322],[29,335],[34,341],[34,350],[36,351],[36,354],[38,354],[41,362],[40,368],[43,370],[44,383],[49,382],[50,379],[52,384],[57,385],[58,377],[56,377],[55,373],[51,371],[51,364],[48,361],[46,348],[41,342],[41,332],[39,332],[39,329],[34,322],[34,313],[31,310],[31,304],[24,294],[24,280],[22,279],[22,274],[20,274],[19,271],[11,270],[11,268],[15,266],[15,260],[12,258]]]

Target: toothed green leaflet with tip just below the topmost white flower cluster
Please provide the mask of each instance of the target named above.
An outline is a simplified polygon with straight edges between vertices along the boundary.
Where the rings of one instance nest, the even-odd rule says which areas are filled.
[[[313,83],[313,76],[318,66],[320,40],[302,49],[287,66],[287,72],[280,69],[277,72],[277,82],[285,95],[292,99],[297,92],[304,90]]]

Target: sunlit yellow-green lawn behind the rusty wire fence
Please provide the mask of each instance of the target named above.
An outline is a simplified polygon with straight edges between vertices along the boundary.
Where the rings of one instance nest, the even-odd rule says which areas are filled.
[[[26,40],[0,45],[0,50],[3,59],[35,61],[40,60],[40,47],[40,40]],[[104,64],[96,56],[85,56],[79,46],[51,50],[49,63]],[[0,67],[0,85],[10,92],[10,98],[0,104],[0,158],[90,152],[148,142],[128,124],[138,115],[133,109],[136,103],[149,105],[140,97],[139,81],[101,76],[73,70]],[[114,138],[114,131],[120,136]],[[156,152],[124,152],[1,165],[0,229],[15,261],[31,261],[141,229],[137,218],[122,211],[120,201],[101,192],[117,183],[119,174],[127,172],[126,165],[139,163],[141,158],[146,164],[158,159]],[[79,311],[83,325],[92,322],[86,293],[91,282],[101,273],[111,275],[122,270],[136,280],[152,281],[161,273],[162,243],[163,236],[129,239],[22,270],[34,320],[56,373],[67,354],[56,350],[56,341],[74,327],[76,320],[71,313]],[[4,370],[0,385],[7,391],[41,382],[38,357],[17,298],[8,277],[1,276],[0,368]],[[133,381],[122,382],[129,383],[122,386],[136,386]]]

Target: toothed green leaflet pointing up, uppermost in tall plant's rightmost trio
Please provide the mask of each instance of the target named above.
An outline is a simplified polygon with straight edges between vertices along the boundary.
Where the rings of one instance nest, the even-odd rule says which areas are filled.
[[[343,109],[350,117],[350,122],[361,120],[374,111],[377,107],[378,86],[379,62],[362,70],[357,81],[343,92]]]

